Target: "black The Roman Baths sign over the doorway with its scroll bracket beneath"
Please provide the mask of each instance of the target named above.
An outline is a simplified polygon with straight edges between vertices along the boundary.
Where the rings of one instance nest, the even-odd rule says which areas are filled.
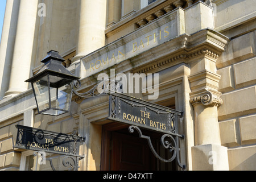
[[[138,131],[140,138],[147,139],[150,149],[156,158],[166,163],[176,159],[179,167],[184,169],[185,166],[180,163],[179,159],[179,139],[184,139],[184,135],[179,134],[179,125],[177,123],[181,114],[181,111],[123,94],[110,94],[108,119],[131,125],[129,132],[133,133],[135,129]],[[161,143],[164,148],[170,151],[171,158],[163,159],[159,156],[152,146],[150,137],[143,135],[139,128],[164,133]]]

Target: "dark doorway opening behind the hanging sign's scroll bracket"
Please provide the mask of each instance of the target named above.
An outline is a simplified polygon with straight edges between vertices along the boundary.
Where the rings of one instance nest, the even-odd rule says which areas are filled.
[[[175,161],[160,162],[152,154],[147,140],[139,138],[136,131],[129,133],[128,127],[117,122],[102,126],[102,171],[176,170]],[[143,135],[151,137],[155,150],[162,158],[171,158],[170,152],[160,146],[160,138],[163,134],[141,130]]]

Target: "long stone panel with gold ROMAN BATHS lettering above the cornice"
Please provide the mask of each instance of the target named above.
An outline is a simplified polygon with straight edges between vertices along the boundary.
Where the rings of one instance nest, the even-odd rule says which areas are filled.
[[[177,9],[156,19],[157,23],[149,23],[90,53],[81,59],[83,65],[81,73],[85,73],[84,77],[94,75],[183,34],[184,26],[182,21],[180,23],[182,16],[184,16],[183,10]]]

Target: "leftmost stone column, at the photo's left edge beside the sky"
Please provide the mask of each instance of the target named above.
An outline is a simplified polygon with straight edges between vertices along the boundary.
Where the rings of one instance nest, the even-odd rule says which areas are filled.
[[[7,0],[0,46],[0,100],[9,86],[18,12],[19,1]]]

